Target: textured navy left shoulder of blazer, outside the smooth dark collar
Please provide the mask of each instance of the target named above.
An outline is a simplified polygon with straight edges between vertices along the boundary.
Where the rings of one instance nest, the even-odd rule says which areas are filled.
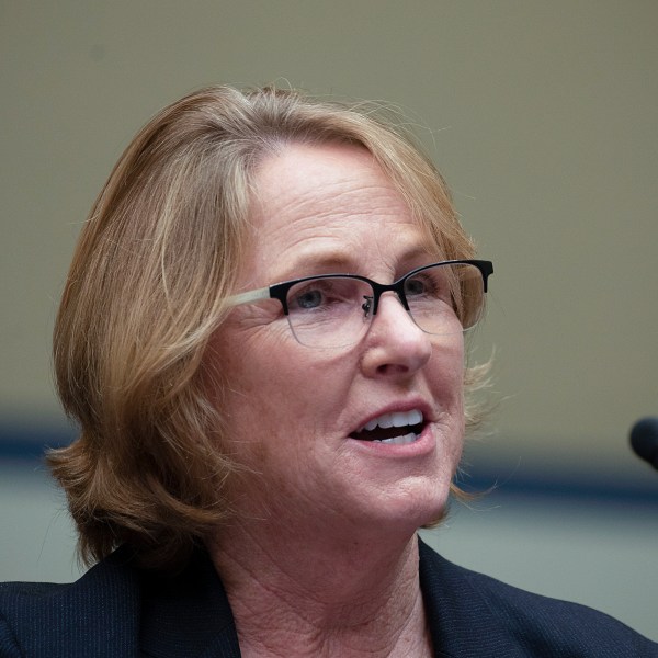
[[[0,656],[134,655],[138,580],[118,552],[72,583],[1,583]]]

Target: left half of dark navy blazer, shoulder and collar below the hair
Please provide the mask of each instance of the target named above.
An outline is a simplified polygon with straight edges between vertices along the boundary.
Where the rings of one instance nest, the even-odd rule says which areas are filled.
[[[240,655],[224,586],[205,553],[175,572],[120,548],[69,585],[0,586],[0,658]]]

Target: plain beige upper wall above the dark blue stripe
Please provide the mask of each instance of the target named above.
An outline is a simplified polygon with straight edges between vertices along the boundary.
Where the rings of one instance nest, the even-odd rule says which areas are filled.
[[[134,132],[198,86],[285,79],[432,129],[496,263],[506,401],[476,450],[650,477],[626,435],[658,413],[657,25],[651,0],[3,2],[0,426],[60,418],[56,299]]]

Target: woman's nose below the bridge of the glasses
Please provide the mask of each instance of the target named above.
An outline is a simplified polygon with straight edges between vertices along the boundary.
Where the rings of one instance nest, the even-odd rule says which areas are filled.
[[[431,354],[429,334],[413,322],[397,295],[382,295],[365,337],[363,373],[368,377],[409,376],[426,365]]]

